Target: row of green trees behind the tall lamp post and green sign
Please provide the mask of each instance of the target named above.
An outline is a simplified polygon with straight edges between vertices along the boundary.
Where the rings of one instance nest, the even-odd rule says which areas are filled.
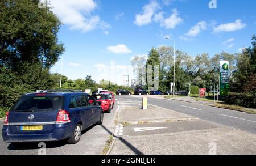
[[[226,100],[230,104],[256,107],[256,37],[253,35],[251,46],[244,48],[241,53],[221,52],[210,57],[208,53],[193,57],[182,50],[175,51],[175,88],[177,90],[198,93],[198,88],[213,90],[220,80],[220,61],[229,61],[230,94]],[[171,46],[152,48],[148,56],[135,56],[131,65],[140,69],[148,65],[159,66],[159,91],[170,90],[170,82],[174,78],[174,49]],[[141,76],[137,74],[137,76]],[[153,78],[154,79],[154,75]],[[193,87],[194,86],[194,87]],[[195,87],[196,86],[196,87]],[[243,96],[243,97],[241,97]]]

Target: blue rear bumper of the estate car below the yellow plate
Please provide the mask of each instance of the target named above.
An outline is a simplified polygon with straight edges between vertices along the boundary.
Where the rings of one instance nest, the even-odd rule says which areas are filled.
[[[60,141],[71,137],[71,133],[69,124],[56,125],[52,133],[47,134],[10,134],[8,126],[3,126],[2,129],[3,141],[7,143]]]

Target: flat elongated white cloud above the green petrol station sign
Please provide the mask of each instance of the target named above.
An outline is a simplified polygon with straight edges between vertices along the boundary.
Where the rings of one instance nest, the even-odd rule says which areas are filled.
[[[228,24],[221,24],[218,27],[213,28],[214,33],[218,32],[233,32],[238,31],[245,28],[247,25],[242,23],[242,20],[238,19],[236,22],[228,23]]]

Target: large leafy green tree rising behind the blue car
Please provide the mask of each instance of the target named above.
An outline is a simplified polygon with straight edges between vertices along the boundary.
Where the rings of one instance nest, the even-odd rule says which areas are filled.
[[[57,33],[61,22],[38,0],[0,1],[0,65],[18,71],[18,63],[53,66],[64,52]]]

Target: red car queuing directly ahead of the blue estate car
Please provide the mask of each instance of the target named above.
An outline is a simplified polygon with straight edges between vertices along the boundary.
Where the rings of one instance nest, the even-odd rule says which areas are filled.
[[[100,105],[104,112],[111,112],[111,109],[114,108],[112,98],[107,94],[94,94],[92,95],[97,101],[100,102]]]

